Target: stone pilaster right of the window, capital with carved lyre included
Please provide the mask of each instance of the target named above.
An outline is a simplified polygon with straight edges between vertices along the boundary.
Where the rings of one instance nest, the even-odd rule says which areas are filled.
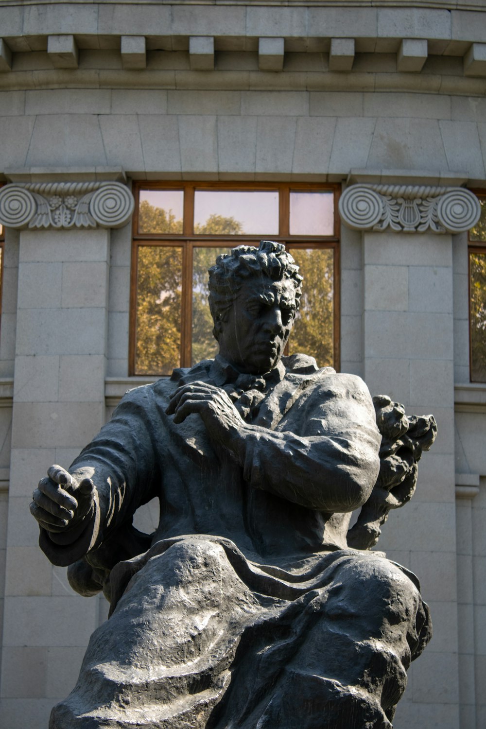
[[[412,502],[391,513],[378,546],[418,574],[431,600],[434,641],[412,665],[396,717],[412,726],[414,704],[458,702],[458,595],[444,579],[456,574],[452,233],[477,222],[479,205],[460,187],[353,184],[340,214],[362,235],[364,379],[407,413],[434,413],[439,430]]]

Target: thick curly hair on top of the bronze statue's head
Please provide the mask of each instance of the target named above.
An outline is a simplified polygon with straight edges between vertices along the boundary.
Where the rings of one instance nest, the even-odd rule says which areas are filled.
[[[296,309],[299,308],[303,280],[299,266],[286,252],[283,243],[260,241],[258,248],[237,246],[231,253],[218,256],[216,264],[209,269],[209,308],[214,324],[224,321],[241,286],[254,276],[267,276],[273,281],[283,278],[292,281]]]

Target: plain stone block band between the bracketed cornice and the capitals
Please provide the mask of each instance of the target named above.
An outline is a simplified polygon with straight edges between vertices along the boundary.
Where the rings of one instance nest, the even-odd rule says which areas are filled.
[[[232,63],[250,63],[233,55]],[[386,76],[386,58],[372,60]],[[149,179],[337,181],[351,168],[461,172],[471,183],[485,177],[486,106],[474,95],[192,84],[193,91],[0,91],[3,167],[62,160],[74,168],[120,165]]]

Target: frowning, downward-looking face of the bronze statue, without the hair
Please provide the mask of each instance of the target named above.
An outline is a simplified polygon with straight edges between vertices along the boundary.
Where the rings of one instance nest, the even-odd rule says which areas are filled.
[[[219,322],[219,353],[240,372],[269,372],[283,354],[295,312],[295,287],[288,278],[248,279]]]

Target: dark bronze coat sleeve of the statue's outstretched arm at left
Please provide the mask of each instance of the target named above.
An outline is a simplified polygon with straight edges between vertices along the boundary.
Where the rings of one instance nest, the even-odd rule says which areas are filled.
[[[74,529],[41,529],[39,545],[52,564],[67,566],[99,547],[120,526],[129,526],[139,506],[160,495],[157,458],[160,416],[154,386],[129,391],[93,441],[69,467],[77,480],[95,484],[93,510]]]

